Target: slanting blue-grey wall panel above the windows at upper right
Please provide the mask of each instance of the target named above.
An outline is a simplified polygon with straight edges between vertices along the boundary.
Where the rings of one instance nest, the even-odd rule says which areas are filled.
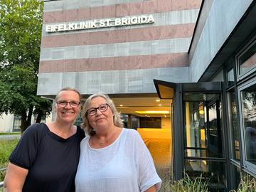
[[[189,81],[197,82],[242,18],[252,0],[213,1],[189,66]]]

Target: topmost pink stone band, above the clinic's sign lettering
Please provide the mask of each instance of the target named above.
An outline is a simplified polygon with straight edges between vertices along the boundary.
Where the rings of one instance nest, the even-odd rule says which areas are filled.
[[[94,18],[111,18],[139,14],[155,14],[163,11],[199,9],[202,0],[149,0],[90,8],[48,11],[43,13],[43,23],[81,21]]]

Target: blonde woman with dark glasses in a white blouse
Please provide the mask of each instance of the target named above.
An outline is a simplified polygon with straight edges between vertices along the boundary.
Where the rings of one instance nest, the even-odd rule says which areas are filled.
[[[80,144],[75,191],[158,191],[161,178],[142,138],[122,127],[110,97],[91,95],[82,107],[88,137]]]

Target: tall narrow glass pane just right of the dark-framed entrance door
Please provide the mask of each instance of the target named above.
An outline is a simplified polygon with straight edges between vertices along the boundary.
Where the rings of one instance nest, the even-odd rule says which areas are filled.
[[[233,134],[232,137],[232,157],[233,159],[240,160],[239,149],[239,130],[238,130],[238,112],[235,102],[235,91],[228,92],[228,117],[230,122],[230,130]]]

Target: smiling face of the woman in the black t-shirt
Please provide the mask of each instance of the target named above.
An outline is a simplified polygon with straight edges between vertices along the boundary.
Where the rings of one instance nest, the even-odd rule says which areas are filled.
[[[80,102],[80,97],[78,93],[73,90],[63,90],[58,94],[57,103],[60,102]],[[68,103],[65,107],[61,107],[60,105],[58,106],[57,103],[55,104],[57,113],[56,121],[73,124],[80,111],[80,105],[78,105],[78,107],[71,107],[70,103]]]

